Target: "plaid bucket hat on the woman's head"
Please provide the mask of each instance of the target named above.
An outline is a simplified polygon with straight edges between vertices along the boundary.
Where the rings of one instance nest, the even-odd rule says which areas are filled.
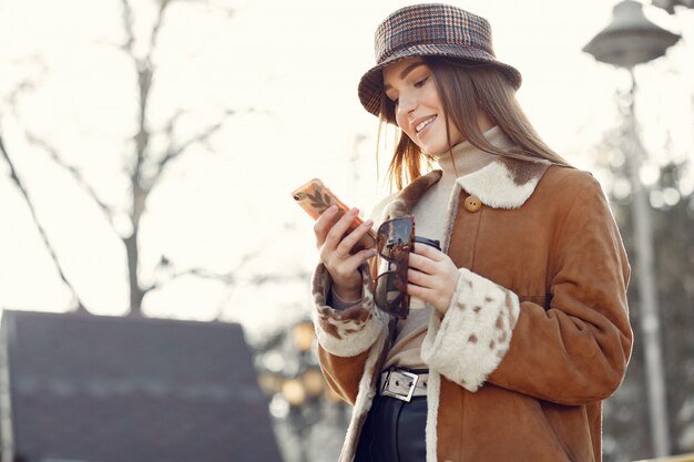
[[[497,61],[491,27],[479,16],[441,3],[401,8],[381,22],[375,37],[376,65],[359,81],[359,101],[378,116],[382,94],[382,69],[412,57],[448,57],[490,63],[509,79],[516,90],[521,74]]]

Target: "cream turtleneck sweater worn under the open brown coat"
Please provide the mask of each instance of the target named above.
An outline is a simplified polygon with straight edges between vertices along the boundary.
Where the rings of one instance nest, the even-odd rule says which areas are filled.
[[[498,126],[484,132],[484,137],[497,147],[512,146],[511,140]],[[467,141],[453,146],[451,151],[450,155],[445,154],[438,160],[438,166],[443,172],[441,179],[427,189],[412,211],[416,234],[438,239],[441,245],[445,243],[448,224],[453,218],[446,216],[446,211],[449,209],[450,202],[455,199],[452,193],[456,181],[497,158],[496,155],[480,151]],[[375,216],[375,214],[371,215]],[[398,321],[397,337],[384,368],[398,366],[409,369],[428,369],[421,359],[421,343],[427,333],[432,309],[422,300],[410,299],[409,316]]]

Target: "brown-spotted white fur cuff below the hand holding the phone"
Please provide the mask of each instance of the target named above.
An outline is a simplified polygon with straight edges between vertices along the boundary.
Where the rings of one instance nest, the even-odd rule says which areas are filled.
[[[374,306],[368,264],[361,265],[359,270],[364,280],[361,300],[345,309],[335,309],[326,302],[331,278],[325,265],[319,264],[314,271],[312,294],[316,336],[323,348],[335,356],[353,357],[368,350],[388,326],[388,320]]]

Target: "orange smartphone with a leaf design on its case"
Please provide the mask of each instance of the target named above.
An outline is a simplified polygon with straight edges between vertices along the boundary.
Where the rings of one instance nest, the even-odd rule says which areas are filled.
[[[349,212],[349,207],[338,199],[337,196],[333,194],[333,192],[318,178],[314,178],[300,186],[292,193],[292,196],[294,197],[294,201],[296,201],[296,203],[302,206],[302,208],[314,219],[318,219],[318,217],[333,204],[337,205],[338,219],[345,215],[345,213]],[[356,217],[345,234],[351,233],[363,223],[364,220],[361,218]],[[359,250],[371,248],[374,246],[376,246],[376,233],[374,233],[374,229],[369,229],[368,233],[365,234],[351,248],[351,253],[356,254]]]

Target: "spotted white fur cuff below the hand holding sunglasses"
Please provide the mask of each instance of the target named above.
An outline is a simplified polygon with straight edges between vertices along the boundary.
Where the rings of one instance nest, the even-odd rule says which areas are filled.
[[[509,350],[520,304],[518,296],[466,268],[448,311],[433,314],[421,346],[421,358],[435,370],[469,391],[497,369]]]

